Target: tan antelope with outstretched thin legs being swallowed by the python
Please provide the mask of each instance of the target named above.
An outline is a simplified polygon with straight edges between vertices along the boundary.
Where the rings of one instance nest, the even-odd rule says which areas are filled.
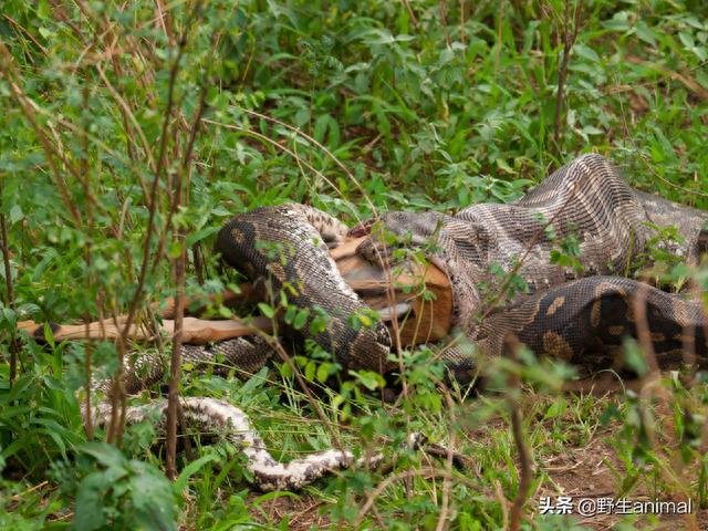
[[[363,237],[365,238],[365,237]],[[399,321],[399,335],[403,345],[413,345],[438,341],[447,335],[450,327],[452,311],[452,294],[447,275],[433,264],[425,267],[409,264],[398,272],[394,279],[394,285],[389,284],[389,277],[384,270],[364,260],[356,252],[363,238],[350,239],[331,251],[342,277],[352,289],[373,310],[379,312],[384,322]],[[423,289],[431,292],[433,300],[421,296]],[[387,292],[393,289],[394,304]],[[205,296],[204,299],[186,299],[186,313],[192,309],[191,314],[201,314],[207,306],[215,303],[229,308],[246,306],[257,302],[260,296],[250,283],[239,285],[239,293],[225,291],[222,293]],[[195,306],[197,309],[195,310]],[[159,333],[171,337],[175,333],[175,300],[169,298],[162,303],[153,305],[153,310],[163,319]],[[125,315],[118,315],[115,320],[94,321],[86,324],[51,324],[54,340],[115,340],[119,337]],[[44,337],[44,324],[34,321],[22,321],[18,329],[27,331],[37,339]],[[183,325],[183,342],[185,344],[201,345],[210,342],[223,341],[257,332],[272,332],[272,321],[264,316],[256,316],[250,320],[230,319],[211,321],[185,317]],[[152,341],[155,332],[144,324],[133,324],[128,331],[128,337],[134,341]]]

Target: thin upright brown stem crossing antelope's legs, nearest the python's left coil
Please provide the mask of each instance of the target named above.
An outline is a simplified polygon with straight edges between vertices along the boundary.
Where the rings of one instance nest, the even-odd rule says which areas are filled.
[[[199,106],[195,113],[195,119],[189,132],[189,139],[185,147],[185,156],[177,173],[175,194],[169,210],[170,219],[167,227],[169,227],[174,214],[181,206],[184,177],[185,173],[189,171],[188,168],[191,164],[191,154],[197,132],[199,131],[199,124],[201,123],[206,94],[206,87],[202,86]],[[175,334],[173,336],[173,353],[169,365],[169,391],[167,394],[167,477],[170,480],[175,480],[177,478],[177,417],[179,407],[179,367],[181,365],[183,323],[185,316],[185,262],[187,260],[187,250],[185,249],[186,237],[186,229],[180,227],[177,232],[179,257],[175,259],[175,280],[177,283],[177,292],[175,294]]]

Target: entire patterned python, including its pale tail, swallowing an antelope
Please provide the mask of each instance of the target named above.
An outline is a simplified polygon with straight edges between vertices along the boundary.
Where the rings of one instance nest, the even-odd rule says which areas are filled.
[[[650,246],[698,263],[708,251],[707,223],[707,212],[634,190],[605,158],[586,154],[513,204],[475,205],[456,216],[389,212],[353,229],[303,205],[263,207],[228,221],[216,248],[226,263],[260,285],[264,296],[284,295],[289,304],[308,312],[305,325],[298,329],[281,319],[283,335],[314,341],[344,369],[386,373],[395,368],[388,329],[372,316],[327,252],[345,237],[364,232],[369,238],[357,251],[385,267],[396,243],[381,236],[381,227],[404,242],[399,246],[424,249],[447,274],[452,287],[452,324],[479,353],[506,354],[506,340],[513,335],[537,354],[580,366],[613,366],[621,357],[623,339],[642,332],[635,304],[639,300],[659,364],[685,361],[690,353],[687,361],[701,365],[708,357],[708,320],[701,304],[625,277]],[[657,241],[656,227],[666,226],[675,226],[678,236]],[[577,257],[575,263],[561,266],[551,257],[559,242],[569,238],[576,242]],[[509,274],[521,279],[525,290],[499,304],[500,298],[490,294],[504,292]],[[481,321],[480,315],[485,315]],[[324,324],[315,326],[317,317]],[[185,346],[183,354],[196,365],[218,358],[222,366],[256,369],[272,350],[261,339],[239,339],[206,348]],[[457,348],[444,351],[442,358],[461,382],[475,367],[473,360]],[[146,375],[134,377],[128,391],[162,377],[160,363],[147,365]],[[239,409],[212,399],[188,398],[185,404],[186,415],[200,424],[212,419],[217,427],[241,430],[237,439],[257,450],[248,456],[249,468],[264,490],[299,488],[352,464],[348,452],[329,450],[281,466]],[[147,416],[146,408],[129,409],[131,420]]]

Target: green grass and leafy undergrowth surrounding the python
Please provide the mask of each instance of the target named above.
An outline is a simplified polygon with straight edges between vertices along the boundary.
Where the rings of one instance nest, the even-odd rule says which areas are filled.
[[[218,271],[211,241],[244,209],[302,201],[347,222],[454,211],[511,201],[589,150],[637,188],[708,208],[707,61],[700,0],[4,0],[0,528],[655,523],[540,514],[542,497],[566,493],[690,498],[695,513],[676,524],[698,529],[700,375],[626,397],[562,395],[568,367],[520,356],[496,368],[506,393],[464,402],[416,352],[392,405],[366,392],[375,378],[326,388],[304,361],[320,418],[278,366],[246,382],[184,367],[183,395],[242,407],[279,458],[335,439],[392,454],[386,473],[261,496],[223,441],[179,452],[170,482],[149,425],[85,429],[84,384],[119,375],[118,354],[146,346],[58,343],[49,329],[38,345],[17,322],[150,322],[149,303],[183,283],[219,292],[238,279]],[[705,268],[658,258],[669,280],[708,287]],[[398,450],[408,430],[468,456],[468,469]]]

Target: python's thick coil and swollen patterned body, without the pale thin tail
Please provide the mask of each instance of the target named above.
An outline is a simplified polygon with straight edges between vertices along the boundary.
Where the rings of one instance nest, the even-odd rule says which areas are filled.
[[[649,304],[657,353],[676,353],[689,342],[698,361],[705,358],[707,322],[698,302],[621,275],[646,253],[655,227],[676,226],[679,241],[659,246],[697,263],[708,250],[707,222],[708,212],[632,189],[594,154],[560,168],[511,205],[476,205],[456,216],[391,212],[381,218],[386,233],[396,235],[406,248],[433,249],[428,258],[452,285],[454,324],[479,351],[501,355],[503,340],[516,334],[538,354],[580,364],[604,357],[625,335],[636,336],[631,301],[637,293]],[[344,236],[346,229],[330,216],[285,205],[237,216],[221,229],[217,249],[251,280],[269,279],[274,293],[288,285],[290,302],[299,308],[324,309],[331,317],[327,330],[313,339],[344,367],[385,372],[392,368],[386,363],[391,339],[383,323],[360,330],[348,325],[366,306],[342,280],[325,244]],[[575,267],[561,267],[551,252],[569,237],[576,239],[580,256]],[[358,252],[374,263],[387,261],[391,248],[382,240],[372,236]],[[273,261],[259,241],[278,242],[291,254],[282,259],[281,252],[281,260]],[[504,274],[492,273],[492,264]],[[510,272],[523,279],[527,293],[500,309],[487,306]],[[480,314],[487,315],[481,324]],[[447,360],[452,368],[456,362],[465,365],[455,351]]]

